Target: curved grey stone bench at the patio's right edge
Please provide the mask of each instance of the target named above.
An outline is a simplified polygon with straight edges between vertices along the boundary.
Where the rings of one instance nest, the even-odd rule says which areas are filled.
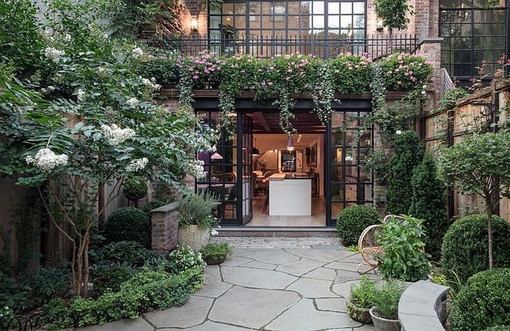
[[[398,302],[402,331],[444,331],[449,287],[420,280],[404,291]]]

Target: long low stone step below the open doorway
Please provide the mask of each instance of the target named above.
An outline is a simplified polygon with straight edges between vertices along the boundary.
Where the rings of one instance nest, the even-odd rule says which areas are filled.
[[[224,226],[218,231],[219,237],[337,237],[336,228],[290,227],[290,226]]]

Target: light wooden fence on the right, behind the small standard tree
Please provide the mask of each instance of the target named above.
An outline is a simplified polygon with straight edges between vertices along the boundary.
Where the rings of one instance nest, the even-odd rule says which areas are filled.
[[[455,109],[426,115],[425,143],[427,150],[434,153],[437,146],[451,146],[460,142],[466,133],[472,133],[473,130],[481,126],[507,122],[509,101],[510,83],[492,83],[490,87],[484,87],[461,99]],[[480,198],[457,192],[450,195],[448,202],[450,217],[454,215],[463,217],[468,212],[477,209],[484,209],[484,203]],[[500,202],[499,214],[510,221],[508,198],[504,198]]]

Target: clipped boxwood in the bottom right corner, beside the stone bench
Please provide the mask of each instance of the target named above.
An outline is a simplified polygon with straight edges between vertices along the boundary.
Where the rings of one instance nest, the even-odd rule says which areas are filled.
[[[449,318],[452,331],[510,325],[510,269],[482,271],[469,278]]]

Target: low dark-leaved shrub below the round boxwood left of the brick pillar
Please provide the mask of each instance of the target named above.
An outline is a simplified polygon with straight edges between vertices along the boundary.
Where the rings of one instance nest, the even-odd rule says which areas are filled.
[[[135,241],[118,241],[107,244],[94,256],[94,264],[128,264],[143,266],[148,260],[157,257],[155,251],[144,248]]]

